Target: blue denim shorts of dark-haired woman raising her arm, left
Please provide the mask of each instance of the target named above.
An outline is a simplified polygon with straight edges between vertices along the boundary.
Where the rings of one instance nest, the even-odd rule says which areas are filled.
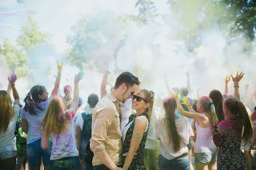
[[[38,167],[41,165],[41,157],[44,166],[50,166],[52,145],[45,150],[41,147],[41,139],[33,141],[33,143],[26,145],[26,154],[28,156],[29,167]]]

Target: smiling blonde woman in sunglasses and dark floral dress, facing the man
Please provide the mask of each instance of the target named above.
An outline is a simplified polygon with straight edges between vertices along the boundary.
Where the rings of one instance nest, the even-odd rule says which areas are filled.
[[[148,136],[148,127],[152,115],[154,103],[154,93],[146,89],[140,90],[137,95],[133,95],[132,109],[137,114],[131,114],[129,123],[123,128],[123,169],[146,170],[143,163],[142,152],[145,148]]]

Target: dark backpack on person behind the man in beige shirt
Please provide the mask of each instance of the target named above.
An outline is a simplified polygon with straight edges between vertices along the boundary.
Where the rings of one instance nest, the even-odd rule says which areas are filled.
[[[82,113],[84,120],[82,129],[82,144],[81,151],[84,153],[84,161],[92,165],[92,157],[94,157],[94,152],[90,149],[90,139],[91,139],[91,127],[92,127],[92,114]]]

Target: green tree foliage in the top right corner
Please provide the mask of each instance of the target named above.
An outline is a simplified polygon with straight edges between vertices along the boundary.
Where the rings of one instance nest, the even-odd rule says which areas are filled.
[[[185,1],[168,0],[181,23],[180,38],[185,39],[188,49],[193,50],[201,43],[201,35],[213,28],[226,30],[228,43],[245,39],[241,47],[250,52],[255,38],[256,2],[239,0]]]

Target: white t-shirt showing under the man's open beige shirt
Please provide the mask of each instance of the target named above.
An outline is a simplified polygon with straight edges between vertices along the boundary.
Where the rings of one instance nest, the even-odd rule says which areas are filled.
[[[129,98],[125,101],[125,103],[120,102],[121,104],[121,112],[123,115],[122,122],[121,122],[121,132],[125,125],[129,122],[129,116],[131,115],[131,105],[133,105],[133,100]]]

